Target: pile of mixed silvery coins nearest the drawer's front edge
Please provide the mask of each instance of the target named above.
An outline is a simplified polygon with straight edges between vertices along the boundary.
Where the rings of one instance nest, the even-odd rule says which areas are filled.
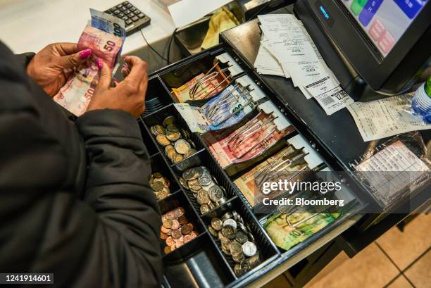
[[[216,242],[225,257],[232,258],[237,277],[261,263],[253,234],[237,211],[229,211],[221,218],[211,219],[208,231],[218,239]]]

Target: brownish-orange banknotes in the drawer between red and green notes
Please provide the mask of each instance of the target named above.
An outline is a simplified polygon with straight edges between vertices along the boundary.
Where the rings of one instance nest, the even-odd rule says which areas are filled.
[[[294,146],[289,145],[238,177],[234,183],[237,185],[239,191],[244,195],[249,204],[252,207],[255,207],[258,204],[261,204],[264,197],[268,196],[261,192],[261,184],[263,181],[295,181],[299,178],[304,179],[304,177],[308,175],[308,163],[304,158],[300,158],[299,161],[294,161],[292,165],[288,165],[289,160],[292,160],[292,158],[301,153],[302,151],[300,149],[295,149]],[[271,171],[271,168],[277,169]],[[277,170],[280,169],[282,169],[282,171],[277,172]],[[271,198],[275,198],[281,193],[282,192],[273,191],[273,193],[271,193]]]

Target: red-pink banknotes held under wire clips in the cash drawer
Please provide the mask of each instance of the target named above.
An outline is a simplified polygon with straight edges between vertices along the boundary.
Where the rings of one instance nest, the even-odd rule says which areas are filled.
[[[273,114],[259,112],[253,119],[236,130],[210,131],[203,139],[211,154],[224,169],[255,158],[294,131],[292,125],[277,130]]]

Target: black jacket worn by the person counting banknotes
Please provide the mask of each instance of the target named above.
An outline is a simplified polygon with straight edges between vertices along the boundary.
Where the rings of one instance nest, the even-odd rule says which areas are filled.
[[[42,111],[42,101],[33,103],[35,94],[47,96],[15,67],[18,61],[2,66],[6,59],[0,59],[0,272],[54,273],[48,287],[158,287],[161,218],[136,121],[108,110],[79,118],[87,154],[82,199],[64,185],[76,162],[70,153],[78,145],[76,128],[70,145],[48,128],[54,120],[68,126],[60,117],[41,120],[61,113],[54,104]]]

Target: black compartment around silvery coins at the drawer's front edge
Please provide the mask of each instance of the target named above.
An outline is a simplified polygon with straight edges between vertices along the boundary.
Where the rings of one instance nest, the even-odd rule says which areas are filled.
[[[205,215],[202,218],[202,220],[204,221],[206,230],[208,230],[207,227],[208,225],[211,225],[211,219],[213,217],[220,218],[224,215],[224,213],[232,210],[237,211],[237,213],[241,215],[242,219],[244,220],[244,224],[248,225],[249,230],[251,231],[251,234],[253,234],[255,244],[258,248],[258,253],[261,256],[261,263],[259,265],[249,270],[244,275],[241,275],[241,277],[239,277],[239,278],[245,278],[253,274],[257,270],[263,268],[265,265],[270,263],[270,261],[273,261],[274,258],[279,256],[280,252],[278,251],[277,247],[275,247],[275,245],[268,240],[269,239],[268,234],[266,233],[265,230],[263,230],[263,227],[261,227],[261,225],[258,223],[258,220],[256,220],[256,218],[254,218],[254,216],[251,215],[251,213],[247,210],[246,206],[244,206],[244,203],[240,198],[233,199],[231,201],[231,206],[232,206],[231,209],[226,209],[225,207],[220,206],[214,209],[213,215]],[[230,267],[233,270],[235,266],[235,261],[233,261],[231,256],[227,256],[225,255],[225,253],[223,253],[223,251],[221,250],[221,242],[218,239],[218,237],[213,237],[213,235],[211,235],[209,231],[208,231],[208,234],[212,237],[214,242],[217,244],[217,248],[219,249],[220,253],[222,253],[225,260],[227,261],[227,263],[229,263]]]

